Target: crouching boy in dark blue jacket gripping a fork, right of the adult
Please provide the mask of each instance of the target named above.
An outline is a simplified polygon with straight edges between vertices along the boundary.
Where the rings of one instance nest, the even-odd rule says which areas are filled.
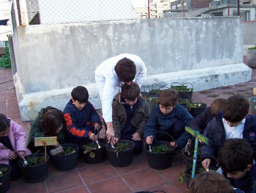
[[[170,134],[179,150],[186,146],[191,135],[185,131],[185,126],[190,124],[193,117],[183,106],[177,104],[177,100],[178,91],[175,89],[161,91],[158,96],[159,105],[153,108],[144,128],[144,138],[147,144],[152,144],[153,140],[170,142],[172,141],[168,135]],[[152,135],[157,131],[162,132]],[[174,143],[171,145],[174,146]]]

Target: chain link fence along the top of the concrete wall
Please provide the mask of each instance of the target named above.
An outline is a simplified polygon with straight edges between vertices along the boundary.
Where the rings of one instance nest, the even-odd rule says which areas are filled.
[[[243,16],[256,20],[256,4],[250,0],[149,0],[144,8],[132,0],[12,0],[12,26],[63,24],[144,18]],[[16,20],[18,18],[18,20]],[[17,24],[16,24],[17,21]]]

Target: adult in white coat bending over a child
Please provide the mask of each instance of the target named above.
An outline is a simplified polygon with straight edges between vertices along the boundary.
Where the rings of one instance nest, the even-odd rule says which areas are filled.
[[[137,55],[128,53],[103,61],[95,71],[95,81],[102,104],[102,117],[106,123],[106,137],[113,143],[112,102],[124,83],[132,81],[141,87],[146,77],[146,65]]]

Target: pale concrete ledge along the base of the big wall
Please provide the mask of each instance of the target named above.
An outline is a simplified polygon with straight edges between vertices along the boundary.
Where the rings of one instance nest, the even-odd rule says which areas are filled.
[[[173,82],[178,82],[182,84],[191,83],[194,87],[194,91],[201,91],[248,82],[251,79],[251,73],[252,69],[244,63],[222,65],[197,70],[150,75],[146,77],[144,87],[151,89],[153,83],[156,83],[160,87],[170,87]],[[14,84],[23,122],[34,120],[40,109],[45,106],[54,106],[63,110],[70,100],[71,91],[74,88],[70,87],[68,89],[25,94],[17,73],[14,75]],[[96,109],[101,108],[96,84],[83,86],[88,89],[89,101]],[[155,88],[158,87],[154,85],[153,89]],[[143,87],[141,89],[143,91]]]

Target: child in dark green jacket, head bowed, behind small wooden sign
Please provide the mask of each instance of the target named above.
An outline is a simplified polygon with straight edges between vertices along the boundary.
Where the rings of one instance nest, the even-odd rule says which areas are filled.
[[[34,146],[34,139],[40,137],[57,137],[57,145],[65,143],[66,122],[61,110],[54,107],[42,108],[38,116],[31,124],[31,129],[28,138],[28,148],[32,153],[36,153],[40,146]],[[52,146],[47,146],[50,150]]]

